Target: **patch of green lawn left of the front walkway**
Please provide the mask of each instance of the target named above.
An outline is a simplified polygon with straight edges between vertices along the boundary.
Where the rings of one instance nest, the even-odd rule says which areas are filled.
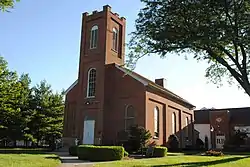
[[[0,154],[0,167],[57,167],[60,160],[49,154]]]

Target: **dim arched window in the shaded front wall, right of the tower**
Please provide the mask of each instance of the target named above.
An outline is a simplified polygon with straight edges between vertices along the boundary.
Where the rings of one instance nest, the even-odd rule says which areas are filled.
[[[135,109],[132,105],[127,105],[125,109],[125,130],[129,130],[135,125]]]

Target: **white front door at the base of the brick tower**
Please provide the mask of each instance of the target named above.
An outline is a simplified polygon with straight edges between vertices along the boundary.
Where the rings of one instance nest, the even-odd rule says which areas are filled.
[[[94,144],[95,138],[95,121],[85,120],[83,128],[83,144]]]

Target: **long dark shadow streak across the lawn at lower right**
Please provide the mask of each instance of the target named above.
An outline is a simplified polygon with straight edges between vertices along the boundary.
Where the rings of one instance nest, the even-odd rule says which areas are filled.
[[[155,165],[153,167],[167,167],[167,166],[183,166],[183,167],[199,167],[199,166],[210,166],[210,165],[218,165],[228,162],[238,161],[240,159],[249,158],[247,157],[232,157],[232,158],[225,158],[215,161],[206,161],[206,162],[184,162],[184,163],[176,163],[176,164],[168,164],[168,165]]]

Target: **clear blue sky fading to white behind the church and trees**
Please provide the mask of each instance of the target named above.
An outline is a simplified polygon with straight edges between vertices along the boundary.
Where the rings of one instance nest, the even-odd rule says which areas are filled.
[[[127,19],[127,34],[132,32],[142,7],[139,0],[21,0],[11,13],[0,13],[0,54],[12,70],[29,73],[33,85],[46,79],[54,90],[67,89],[78,74],[81,13],[106,4]],[[249,106],[243,90],[207,83],[206,62],[187,56],[144,57],[135,71],[151,80],[166,78],[169,90],[198,109]]]

